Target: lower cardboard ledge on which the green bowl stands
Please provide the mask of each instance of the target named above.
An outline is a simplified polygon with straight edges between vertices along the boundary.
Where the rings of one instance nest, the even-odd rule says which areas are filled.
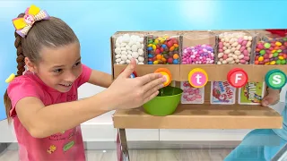
[[[168,116],[145,114],[142,107],[117,110],[115,128],[126,129],[281,129],[283,118],[264,106],[182,105]]]

